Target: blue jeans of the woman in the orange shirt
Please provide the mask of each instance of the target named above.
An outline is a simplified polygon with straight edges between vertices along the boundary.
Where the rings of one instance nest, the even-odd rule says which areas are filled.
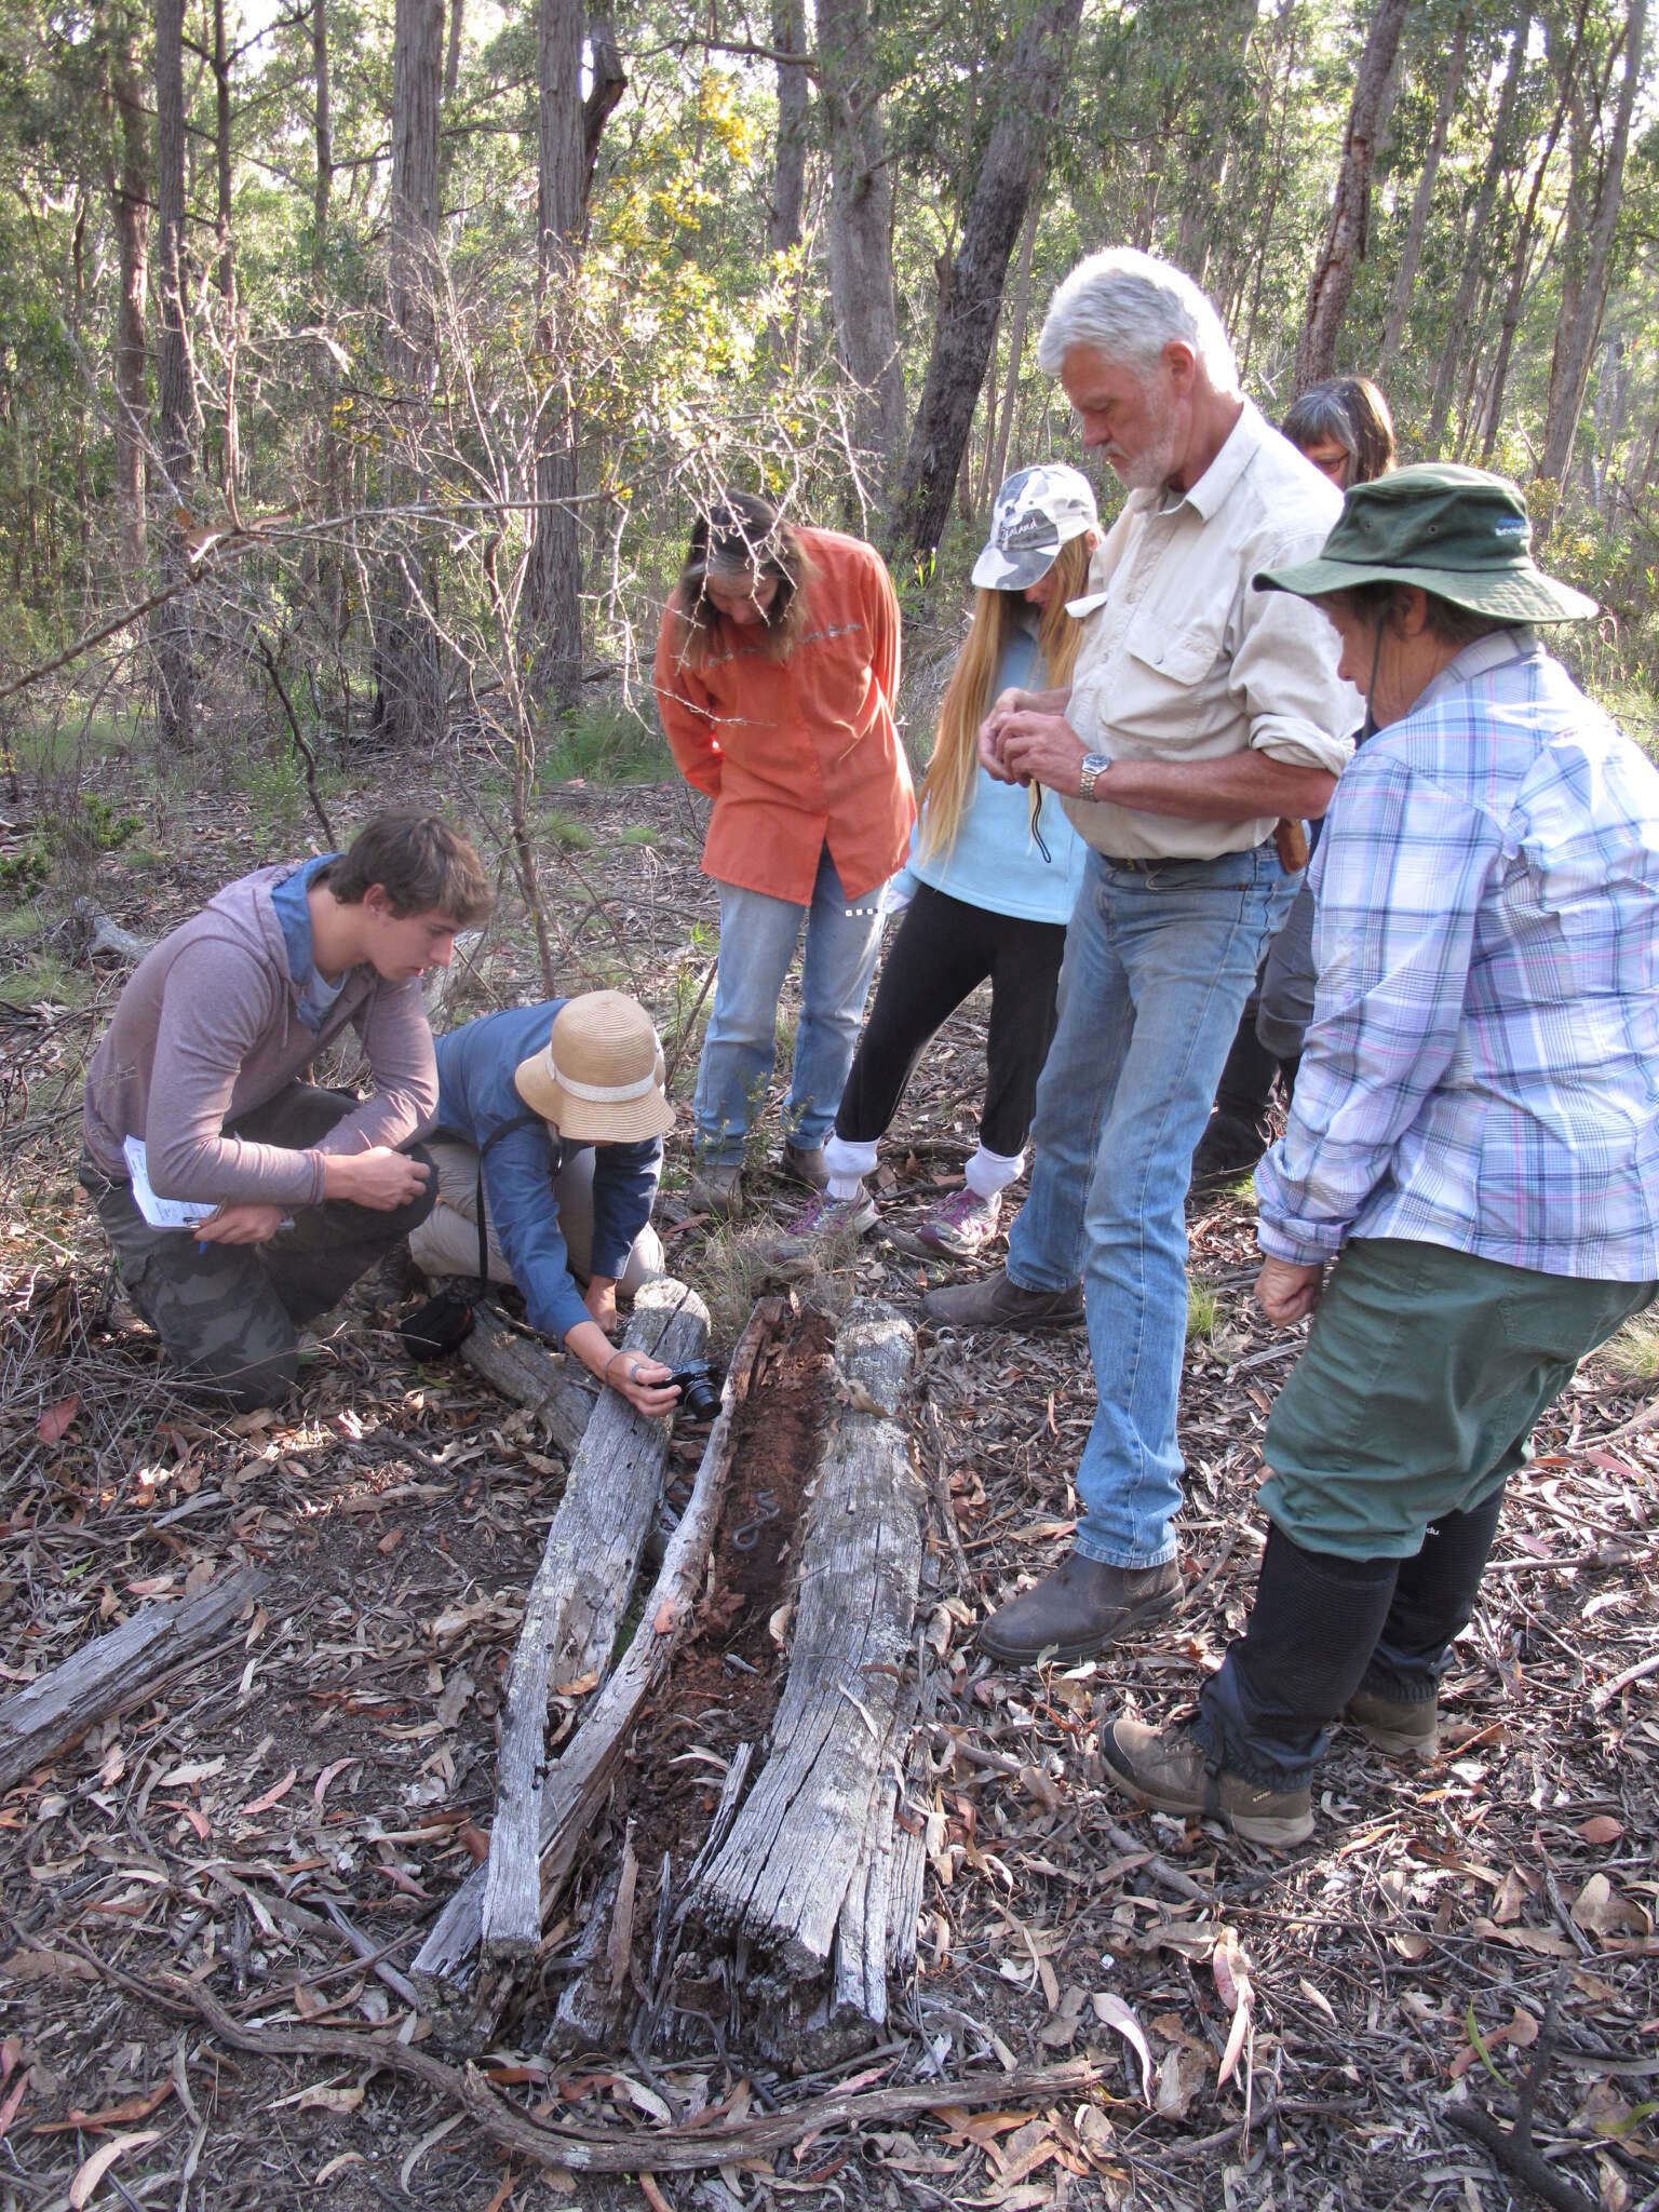
[[[783,1135],[810,1150],[830,1135],[869,978],[880,949],[880,887],[847,905],[825,845],[812,905],[768,898],[721,883],[721,956],[714,1011],[697,1064],[697,1155],[714,1166],[743,1159],[743,1137],[765,1102],[776,1057],[779,993],[790,973],[801,920],[801,1026],[794,1035],[794,1075],[783,1104]]]

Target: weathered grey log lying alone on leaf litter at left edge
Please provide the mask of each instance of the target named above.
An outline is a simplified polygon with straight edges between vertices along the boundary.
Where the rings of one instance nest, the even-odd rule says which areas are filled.
[[[268,1582],[263,1568],[243,1566],[195,1597],[142,1606],[131,1621],[0,1701],[0,1790],[44,1765],[93,1721],[148,1697],[204,1652]]]

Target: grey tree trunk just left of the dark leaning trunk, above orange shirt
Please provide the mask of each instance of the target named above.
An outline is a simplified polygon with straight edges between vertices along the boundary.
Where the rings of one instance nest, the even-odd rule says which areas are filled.
[[[905,438],[894,290],[894,184],[867,0],[818,0],[818,97],[830,122],[830,301],[836,358],[858,392],[854,442],[887,476]]]

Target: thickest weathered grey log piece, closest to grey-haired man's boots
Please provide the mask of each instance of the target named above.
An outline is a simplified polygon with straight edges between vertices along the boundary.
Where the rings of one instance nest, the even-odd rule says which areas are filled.
[[[845,1402],[807,1515],[772,1754],[692,1907],[790,1984],[825,1973],[907,1694],[925,1491],[894,1416],[914,1347],[874,1301],[841,1325]]]

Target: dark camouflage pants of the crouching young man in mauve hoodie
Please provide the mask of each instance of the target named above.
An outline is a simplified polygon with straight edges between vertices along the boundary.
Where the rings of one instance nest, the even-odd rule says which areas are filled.
[[[226,1135],[303,1152],[354,1106],[343,1091],[290,1084],[228,1121]],[[418,1146],[409,1152],[431,1166]],[[434,1177],[389,1214],[343,1199],[299,1206],[294,1225],[268,1243],[199,1248],[188,1230],[150,1228],[131,1186],[111,1181],[86,1155],[80,1179],[115,1245],[126,1292],[173,1365],[243,1413],[281,1405],[294,1383],[299,1332],[425,1221],[436,1192]]]

